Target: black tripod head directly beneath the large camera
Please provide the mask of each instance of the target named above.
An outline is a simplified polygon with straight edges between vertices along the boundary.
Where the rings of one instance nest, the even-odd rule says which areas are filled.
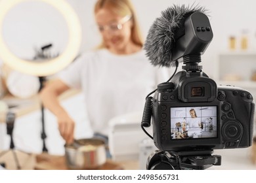
[[[211,155],[213,150],[170,151],[156,150],[148,157],[148,170],[204,170],[221,165],[221,156]]]

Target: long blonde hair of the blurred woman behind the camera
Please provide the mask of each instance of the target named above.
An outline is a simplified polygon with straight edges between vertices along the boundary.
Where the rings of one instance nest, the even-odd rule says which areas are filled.
[[[95,14],[101,8],[108,8],[119,16],[131,15],[133,21],[133,27],[131,28],[131,41],[139,46],[143,46],[142,35],[140,33],[137,16],[135,14],[135,8],[129,0],[98,0],[95,5]],[[106,48],[104,41],[97,48]]]

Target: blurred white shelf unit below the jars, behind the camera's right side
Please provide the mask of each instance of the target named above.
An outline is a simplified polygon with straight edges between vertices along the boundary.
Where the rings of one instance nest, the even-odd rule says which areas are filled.
[[[256,51],[239,50],[220,52],[217,56],[215,81],[218,85],[231,85],[248,90],[256,98]]]

